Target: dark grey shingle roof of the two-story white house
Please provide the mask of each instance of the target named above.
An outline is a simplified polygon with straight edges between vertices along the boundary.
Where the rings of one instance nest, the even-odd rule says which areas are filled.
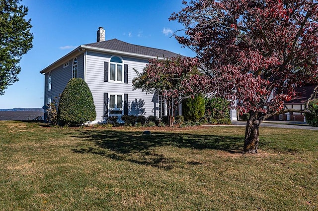
[[[126,43],[117,39],[86,44],[84,46],[90,46],[101,49],[108,49],[114,51],[128,52],[128,53],[137,53],[142,55],[158,56],[158,57],[176,57],[179,54],[169,52],[161,49],[154,49],[144,46],[137,46],[130,43]]]

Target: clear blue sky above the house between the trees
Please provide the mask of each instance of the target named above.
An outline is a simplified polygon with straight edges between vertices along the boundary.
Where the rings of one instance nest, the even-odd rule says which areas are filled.
[[[106,40],[164,49],[195,56],[171,37],[182,25],[169,21],[182,8],[182,0],[22,0],[29,8],[33,48],[20,62],[19,81],[0,96],[0,108],[42,107],[42,69],[76,47],[96,42],[98,27]]]

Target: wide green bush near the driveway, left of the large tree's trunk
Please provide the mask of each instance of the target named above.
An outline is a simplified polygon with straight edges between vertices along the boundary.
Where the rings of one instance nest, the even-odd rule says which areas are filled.
[[[224,98],[206,98],[205,116],[214,119],[230,118],[230,102]]]

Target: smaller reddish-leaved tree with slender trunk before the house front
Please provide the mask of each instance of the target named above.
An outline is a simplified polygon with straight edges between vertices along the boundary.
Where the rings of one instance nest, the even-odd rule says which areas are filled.
[[[162,95],[167,105],[169,126],[173,126],[177,106],[186,98],[209,90],[210,78],[199,74],[197,58],[150,59],[143,72],[133,79],[133,89]]]

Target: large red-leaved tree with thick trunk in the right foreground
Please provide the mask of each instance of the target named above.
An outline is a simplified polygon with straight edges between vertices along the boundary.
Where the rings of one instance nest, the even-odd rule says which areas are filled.
[[[296,87],[317,85],[318,1],[183,4],[169,18],[185,27],[186,36],[175,38],[197,53],[214,93],[238,100],[240,112],[249,112],[244,151],[257,153],[260,123],[282,112],[284,101],[297,94]]]

